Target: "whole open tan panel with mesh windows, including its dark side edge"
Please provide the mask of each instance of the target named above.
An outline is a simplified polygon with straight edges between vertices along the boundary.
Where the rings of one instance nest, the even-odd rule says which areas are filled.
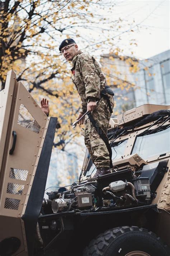
[[[3,231],[0,241],[9,237],[19,239],[20,247],[11,255],[24,256],[32,255],[33,245],[29,244],[28,250],[28,241],[34,239],[34,226],[41,209],[54,128],[51,127],[52,118],[44,114],[22,82],[14,77],[13,71],[8,72],[5,85],[8,93],[0,92],[3,94],[1,108],[5,109],[1,115],[4,120],[0,141],[3,149],[3,158],[2,152],[0,158],[0,225]],[[49,138],[46,133],[50,134]],[[51,144],[44,148],[46,141]],[[33,219],[31,223],[29,216]],[[33,228],[29,230],[31,225]]]

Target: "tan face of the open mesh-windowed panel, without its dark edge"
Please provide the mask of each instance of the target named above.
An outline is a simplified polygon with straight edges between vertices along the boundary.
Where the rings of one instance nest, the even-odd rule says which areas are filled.
[[[0,91],[0,241],[19,238],[21,246],[13,255],[28,255],[24,223],[29,193],[48,128],[47,117],[35,100],[17,82],[15,73],[7,74],[5,89]],[[16,145],[13,144],[16,132]]]

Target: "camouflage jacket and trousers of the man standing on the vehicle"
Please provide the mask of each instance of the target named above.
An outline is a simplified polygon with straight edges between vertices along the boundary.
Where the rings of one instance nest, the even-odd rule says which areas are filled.
[[[80,112],[85,113],[87,111],[87,101],[89,98],[98,100],[97,106],[91,114],[96,124],[100,126],[105,133],[107,133],[111,113],[107,100],[103,97],[100,98],[100,91],[103,90],[104,86],[107,84],[98,62],[96,62],[92,56],[78,51],[72,60],[72,64],[73,68],[71,71],[74,75],[73,82],[82,101],[82,108]],[[113,108],[113,97],[111,95],[108,96]],[[88,116],[85,118],[84,139],[85,145],[89,150],[91,160],[95,166],[97,168],[109,167],[110,158],[108,149],[91,124]]]

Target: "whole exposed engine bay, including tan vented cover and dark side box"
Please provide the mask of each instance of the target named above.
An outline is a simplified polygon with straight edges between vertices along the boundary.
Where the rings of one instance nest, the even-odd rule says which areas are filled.
[[[149,205],[167,171],[167,161],[147,164],[137,154],[130,156],[114,166],[111,174],[73,183],[69,190],[63,187],[47,192],[41,213],[97,212]]]

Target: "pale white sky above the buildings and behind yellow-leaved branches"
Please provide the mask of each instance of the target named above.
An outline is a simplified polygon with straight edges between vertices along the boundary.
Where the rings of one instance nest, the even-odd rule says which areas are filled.
[[[110,9],[109,1],[114,5]],[[105,28],[108,34],[107,31],[101,34],[103,26],[100,23],[90,32],[91,34],[85,28],[81,28],[80,38],[75,38],[75,40],[82,51],[93,54],[98,59],[101,54],[108,54],[112,46],[109,49],[108,46],[103,45],[93,52],[93,48],[89,47],[89,38],[94,38],[94,41],[100,45],[109,35],[109,38],[114,39],[114,46],[123,49],[123,55],[133,56],[140,60],[170,49],[170,0],[103,0],[100,11],[93,9],[91,12],[107,19],[108,23]],[[116,30],[109,21],[114,22],[119,18],[122,19],[122,22],[118,23],[121,27]],[[95,25],[92,23],[93,26]],[[63,34],[61,39],[65,39],[65,36]],[[74,33],[70,33],[70,37],[74,38]],[[87,39],[87,45],[84,44],[82,38]],[[131,39],[135,39],[137,46],[130,45]]]

